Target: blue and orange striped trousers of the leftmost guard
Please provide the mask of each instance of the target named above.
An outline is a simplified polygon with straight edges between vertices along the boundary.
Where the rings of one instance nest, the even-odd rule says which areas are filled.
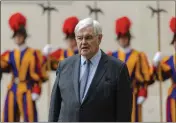
[[[32,101],[31,90],[24,93],[17,93],[8,90],[2,121],[19,122],[20,118],[24,122],[37,122],[36,104]]]

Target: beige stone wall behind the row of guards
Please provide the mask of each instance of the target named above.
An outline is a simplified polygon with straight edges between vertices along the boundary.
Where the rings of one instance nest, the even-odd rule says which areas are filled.
[[[23,2],[24,3],[24,2]],[[8,3],[2,2],[1,5],[1,52],[15,47],[12,35],[8,26],[8,18],[14,12],[22,12],[28,19],[28,44],[31,47],[42,49],[47,43],[47,19],[46,14],[42,15],[42,9],[35,4],[35,2],[23,3]],[[36,2],[44,3],[44,2]],[[172,1],[162,1],[161,7],[168,11],[168,13],[161,14],[161,50],[165,54],[172,54],[173,48],[169,45],[172,40],[172,33],[169,29],[169,20],[175,15],[175,6]],[[53,2],[52,6],[59,9],[59,12],[52,13],[51,23],[51,43],[57,47],[66,47],[62,33],[62,23],[68,16],[78,16],[80,19],[88,17],[89,11],[85,7],[92,5],[93,1],[74,1],[74,2]],[[98,2],[104,15],[99,15],[99,21],[103,27],[103,41],[101,48],[104,51],[116,50],[118,45],[115,41],[115,19],[121,16],[128,16],[132,20],[131,32],[134,36],[132,46],[138,50],[147,53],[149,60],[152,60],[154,53],[157,51],[157,21],[156,16],[151,18],[151,11],[147,9],[147,5],[156,8],[155,1],[101,1]],[[94,17],[92,15],[92,17]],[[55,73],[50,74],[50,81],[53,84]],[[6,95],[7,84],[10,81],[10,75],[4,75],[1,82],[1,109],[4,105],[4,98]],[[163,111],[165,119],[165,100],[167,96],[167,89],[170,85],[169,81],[163,84]],[[43,95],[37,102],[39,111],[39,121],[47,121],[47,84],[43,85]],[[155,83],[149,87],[149,97],[144,103],[144,121],[152,122],[159,121],[159,84]],[[46,112],[46,113],[45,113]]]

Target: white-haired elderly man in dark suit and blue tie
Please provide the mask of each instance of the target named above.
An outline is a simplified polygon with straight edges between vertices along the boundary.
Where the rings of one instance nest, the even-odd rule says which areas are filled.
[[[102,28],[91,18],[75,27],[79,55],[60,62],[49,122],[129,122],[132,89],[125,63],[107,56],[99,45]]]

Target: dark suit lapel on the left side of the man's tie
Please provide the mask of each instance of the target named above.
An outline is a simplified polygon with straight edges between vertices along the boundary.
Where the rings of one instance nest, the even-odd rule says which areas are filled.
[[[76,94],[76,98],[80,103],[79,99],[79,74],[80,74],[80,57],[77,55],[75,63],[73,64],[73,86]]]

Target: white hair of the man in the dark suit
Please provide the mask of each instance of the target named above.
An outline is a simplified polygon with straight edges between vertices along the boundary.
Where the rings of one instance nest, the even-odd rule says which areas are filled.
[[[77,34],[81,29],[86,27],[93,27],[94,34],[99,35],[102,34],[102,27],[100,23],[96,20],[93,20],[92,18],[85,18],[83,20],[80,20],[79,23],[75,27],[75,34]]]

